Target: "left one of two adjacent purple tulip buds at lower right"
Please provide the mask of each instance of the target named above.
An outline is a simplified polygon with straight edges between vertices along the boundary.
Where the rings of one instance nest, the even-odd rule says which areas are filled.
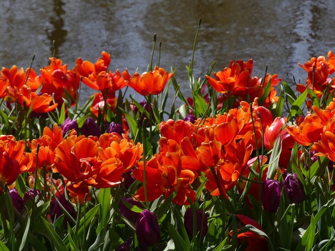
[[[281,197],[279,181],[270,178],[263,181],[261,195],[264,210],[269,213],[276,213]]]

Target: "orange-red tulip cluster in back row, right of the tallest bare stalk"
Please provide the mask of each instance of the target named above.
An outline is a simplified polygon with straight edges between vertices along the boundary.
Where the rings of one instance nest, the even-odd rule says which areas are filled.
[[[277,74],[267,74],[265,80],[258,77],[251,77],[253,68],[253,61],[249,59],[247,62],[242,60],[230,61],[229,66],[224,68],[221,72],[215,72],[215,78],[206,75],[208,83],[218,92],[226,96],[228,93],[231,96],[236,96],[238,100],[247,100],[249,95],[250,100],[256,97],[261,97],[264,94],[264,88],[270,83],[271,87],[268,98],[264,101],[264,106],[268,107],[271,103],[277,102],[277,91],[274,86],[278,85],[281,78],[277,78]]]

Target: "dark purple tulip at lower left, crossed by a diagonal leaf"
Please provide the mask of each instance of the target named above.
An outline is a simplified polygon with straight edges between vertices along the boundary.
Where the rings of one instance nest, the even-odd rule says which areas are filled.
[[[65,210],[72,216],[72,218],[74,218],[74,208],[66,200],[66,197],[63,194],[60,194],[60,195],[57,196],[57,199],[59,200],[61,205],[65,208]],[[56,219],[58,219],[63,214],[64,213],[62,211],[62,208],[60,207],[58,202],[56,200],[52,200],[50,202],[50,218],[51,218],[51,220],[54,221],[55,217],[56,217]],[[68,222],[70,223],[70,225],[73,225],[72,222],[70,221],[70,219],[67,216],[65,216],[64,221],[63,221],[64,228],[66,228]]]

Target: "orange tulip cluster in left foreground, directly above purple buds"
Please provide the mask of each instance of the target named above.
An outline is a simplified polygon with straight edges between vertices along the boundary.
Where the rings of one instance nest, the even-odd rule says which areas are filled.
[[[121,184],[121,174],[135,166],[141,158],[142,145],[112,134],[99,137],[79,136],[75,133],[55,148],[53,172],[59,172],[71,185],[70,194],[83,202],[89,194],[88,186],[97,188]]]

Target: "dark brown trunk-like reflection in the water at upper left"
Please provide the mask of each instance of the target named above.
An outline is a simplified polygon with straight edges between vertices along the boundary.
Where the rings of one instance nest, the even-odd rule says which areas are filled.
[[[64,20],[61,17],[62,14],[65,13],[65,11],[62,9],[62,6],[65,5],[65,3],[62,2],[62,0],[54,0],[54,12],[56,15],[51,15],[50,17],[50,23],[54,26],[54,29],[51,32],[47,31],[47,36],[51,41],[56,41],[56,53],[57,48],[61,47],[61,45],[64,43],[67,30],[63,29],[64,27]],[[50,47],[51,51],[53,52],[54,48],[53,46]]]

